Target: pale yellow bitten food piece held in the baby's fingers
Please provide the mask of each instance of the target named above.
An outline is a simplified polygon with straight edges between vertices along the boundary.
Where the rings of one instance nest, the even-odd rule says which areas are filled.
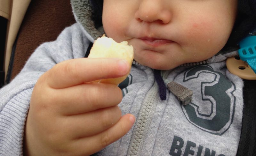
[[[128,45],[127,41],[117,43],[112,38],[108,38],[105,35],[94,41],[92,49],[88,58],[122,58],[130,64],[130,69],[133,61],[133,47]],[[109,78],[99,80],[102,83],[111,83],[118,85],[129,75],[129,73],[119,78]]]

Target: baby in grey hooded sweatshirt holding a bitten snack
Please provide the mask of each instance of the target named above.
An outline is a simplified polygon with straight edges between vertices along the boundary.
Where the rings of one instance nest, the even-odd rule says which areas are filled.
[[[255,0],[71,4],[77,23],[0,90],[2,155],[236,155],[244,85],[226,59],[255,33]],[[126,61],[84,58],[103,34],[134,48],[118,86],[92,81],[126,75]]]

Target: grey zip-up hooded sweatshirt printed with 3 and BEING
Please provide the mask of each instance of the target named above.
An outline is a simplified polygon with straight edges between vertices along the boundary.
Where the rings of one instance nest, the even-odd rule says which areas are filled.
[[[90,1],[71,3],[77,23],[56,41],[39,46],[17,77],[0,90],[0,155],[22,155],[24,125],[37,79],[56,63],[84,57],[89,44],[104,33],[94,26]],[[134,61],[130,75],[119,85],[124,97],[118,106],[123,114],[135,115],[136,122],[124,137],[95,155],[236,155],[243,80],[226,68],[227,57],[235,55],[237,50],[220,52],[203,62],[161,71],[166,84],[174,81],[193,91],[188,105],[168,90],[166,100],[161,100],[154,71]]]

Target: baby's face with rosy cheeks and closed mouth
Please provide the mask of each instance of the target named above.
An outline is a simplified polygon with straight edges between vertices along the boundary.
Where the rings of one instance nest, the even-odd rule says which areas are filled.
[[[104,0],[108,37],[128,41],[134,59],[173,69],[217,54],[232,31],[237,0]]]

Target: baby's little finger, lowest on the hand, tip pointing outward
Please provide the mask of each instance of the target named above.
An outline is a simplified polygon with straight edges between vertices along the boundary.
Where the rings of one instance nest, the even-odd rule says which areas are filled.
[[[83,154],[90,155],[100,151],[107,145],[115,142],[123,137],[135,122],[135,117],[131,114],[126,114],[111,128],[94,135],[92,137],[80,138],[75,144],[78,149],[83,149]]]

